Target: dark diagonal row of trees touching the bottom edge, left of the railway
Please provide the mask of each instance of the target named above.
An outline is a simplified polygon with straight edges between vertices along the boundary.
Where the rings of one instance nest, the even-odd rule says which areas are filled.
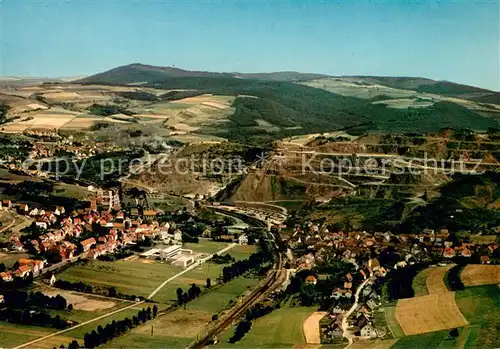
[[[77,340],[73,340],[69,343],[68,349],[96,348],[157,316],[158,307],[156,305],[153,305],[153,308],[148,307],[147,309],[141,309],[137,315],[134,315],[132,318],[126,317],[123,320],[113,320],[104,327],[99,325],[95,330],[84,335],[83,346],[80,346]],[[64,346],[61,347],[64,348]]]

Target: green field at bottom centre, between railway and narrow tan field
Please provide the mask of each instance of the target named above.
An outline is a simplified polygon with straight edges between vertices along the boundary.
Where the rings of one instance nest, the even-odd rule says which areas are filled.
[[[218,347],[223,348],[290,348],[305,344],[302,324],[314,307],[276,309],[272,313],[253,321],[252,328],[237,343],[228,343],[234,326],[223,332]]]

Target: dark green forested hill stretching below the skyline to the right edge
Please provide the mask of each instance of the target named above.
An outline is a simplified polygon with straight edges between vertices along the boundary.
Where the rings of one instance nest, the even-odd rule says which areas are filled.
[[[125,84],[142,80],[143,87],[195,90],[188,91],[189,95],[238,96],[230,122],[217,126],[219,135],[232,140],[276,139],[339,129],[424,133],[444,127],[472,130],[498,127],[494,119],[452,102],[438,102],[425,108],[395,109],[293,82],[235,78],[226,73],[189,72],[189,76],[185,76],[185,71],[175,68],[133,66],[130,70],[131,67],[127,67],[117,68],[118,73],[117,70],[108,71],[82,82]],[[161,72],[170,76],[165,77]],[[166,98],[182,99],[186,97],[184,94],[170,94]],[[271,124],[273,131],[259,127],[262,121]]]

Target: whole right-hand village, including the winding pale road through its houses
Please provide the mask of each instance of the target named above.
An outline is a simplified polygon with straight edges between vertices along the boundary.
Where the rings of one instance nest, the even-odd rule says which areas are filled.
[[[312,325],[311,343],[392,338],[390,326],[380,309],[382,303],[387,302],[384,298],[388,291],[384,290],[384,285],[390,284],[388,278],[393,277],[394,282],[404,284],[403,279],[397,279],[401,274],[407,273],[411,280],[416,272],[426,267],[496,263],[500,257],[496,236],[492,235],[489,242],[485,237],[482,242],[458,239],[447,229],[396,235],[390,232],[330,232],[326,225],[312,222],[294,227],[287,240],[291,274],[301,274],[305,287],[330,292],[323,294],[319,301],[326,303],[327,309],[318,312],[319,317],[312,319],[311,316],[316,322]],[[335,262],[347,264],[350,271],[332,287],[327,280],[329,276],[317,270]],[[322,282],[329,285],[326,290],[320,286]],[[403,292],[411,292],[411,282],[401,287],[408,289]],[[319,299],[322,296],[319,295]],[[411,296],[408,293],[407,297]],[[314,335],[318,332],[320,338]]]

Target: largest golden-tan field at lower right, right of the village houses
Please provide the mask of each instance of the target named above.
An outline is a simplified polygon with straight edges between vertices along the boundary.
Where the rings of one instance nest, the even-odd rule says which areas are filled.
[[[454,292],[400,299],[396,319],[407,336],[468,325],[455,303]]]

